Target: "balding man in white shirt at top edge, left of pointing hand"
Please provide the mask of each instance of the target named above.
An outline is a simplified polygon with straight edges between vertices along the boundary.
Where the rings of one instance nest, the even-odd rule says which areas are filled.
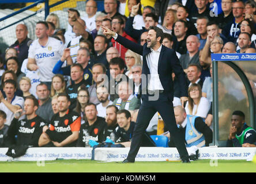
[[[91,32],[93,29],[96,29],[96,23],[95,23],[96,12],[97,12],[96,1],[93,1],[93,0],[87,1],[85,5],[85,12],[86,12],[86,15],[82,18],[82,20],[86,22],[87,30]]]

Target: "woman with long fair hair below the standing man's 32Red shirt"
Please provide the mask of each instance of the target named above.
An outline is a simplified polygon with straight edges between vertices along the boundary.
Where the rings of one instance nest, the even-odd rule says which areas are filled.
[[[51,97],[66,92],[66,82],[62,74],[55,74],[51,79]]]

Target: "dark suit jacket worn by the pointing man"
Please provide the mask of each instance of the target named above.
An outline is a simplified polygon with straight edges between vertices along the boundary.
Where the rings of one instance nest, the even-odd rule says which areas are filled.
[[[150,48],[146,47],[147,43],[143,46],[134,43],[133,41],[127,40],[124,37],[118,35],[116,41],[124,45],[126,48],[131,49],[131,51],[136,52],[143,56],[142,64],[142,74],[146,75],[146,86],[148,85],[148,74],[150,74],[148,63],[146,61],[146,55],[151,52]],[[161,81],[161,85],[164,88],[164,93],[160,94],[159,101],[172,101],[174,98],[174,84],[172,82],[172,71],[174,71],[175,76],[180,84],[180,97],[187,97],[187,87],[185,72],[180,66],[180,62],[174,49],[164,47],[162,45],[159,64],[158,64],[158,74]],[[142,84],[143,85],[143,84]],[[142,91],[144,87],[142,86]],[[148,94],[142,94],[142,99],[148,99]]]

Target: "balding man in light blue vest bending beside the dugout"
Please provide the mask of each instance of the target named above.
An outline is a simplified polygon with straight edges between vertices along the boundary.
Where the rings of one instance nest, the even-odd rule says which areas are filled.
[[[201,117],[187,115],[185,109],[180,105],[175,106],[174,114],[177,126],[184,137],[186,147],[191,147],[193,145],[197,147],[205,147],[212,143],[212,129],[205,124]],[[167,134],[167,137],[171,137],[170,133]],[[172,138],[170,139],[169,145],[170,147],[175,147]]]

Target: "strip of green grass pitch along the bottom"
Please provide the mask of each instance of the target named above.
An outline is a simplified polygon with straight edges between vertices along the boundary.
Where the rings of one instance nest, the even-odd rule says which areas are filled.
[[[1,173],[255,173],[256,164],[246,160],[197,160],[181,162],[116,163],[92,160],[0,162]]]

